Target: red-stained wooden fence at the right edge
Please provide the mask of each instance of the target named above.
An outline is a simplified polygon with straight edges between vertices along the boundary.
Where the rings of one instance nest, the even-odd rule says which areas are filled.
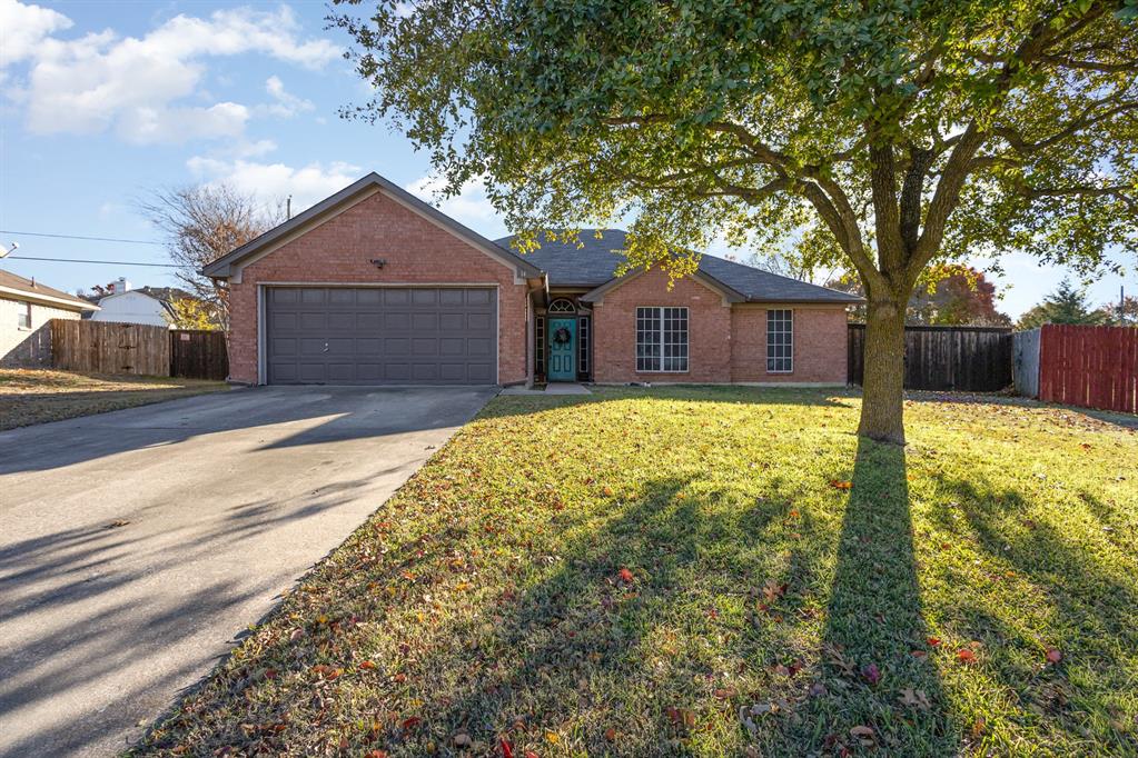
[[[1138,328],[1044,326],[1039,340],[1039,399],[1138,413]]]

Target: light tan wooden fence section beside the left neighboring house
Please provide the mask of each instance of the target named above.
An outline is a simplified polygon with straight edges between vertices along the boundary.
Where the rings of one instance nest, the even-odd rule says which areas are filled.
[[[170,330],[52,318],[51,364],[73,372],[170,376]]]

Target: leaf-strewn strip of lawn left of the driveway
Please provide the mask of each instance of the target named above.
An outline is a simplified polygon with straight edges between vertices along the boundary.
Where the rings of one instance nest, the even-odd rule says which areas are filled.
[[[203,380],[0,368],[0,431],[224,389]]]

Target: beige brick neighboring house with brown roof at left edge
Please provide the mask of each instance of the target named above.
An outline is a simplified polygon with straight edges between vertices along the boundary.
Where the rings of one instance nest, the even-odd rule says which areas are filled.
[[[0,270],[0,366],[48,368],[51,366],[52,318],[77,319],[99,307],[44,286],[35,280]]]

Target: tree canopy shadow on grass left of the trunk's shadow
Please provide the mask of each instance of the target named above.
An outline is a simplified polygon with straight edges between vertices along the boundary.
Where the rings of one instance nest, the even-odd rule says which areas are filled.
[[[230,709],[246,724],[274,724],[287,715],[297,731],[249,733],[222,719],[195,750],[310,752],[347,744],[393,756],[451,755],[461,752],[453,739],[463,733],[481,752],[498,755],[503,736],[518,756],[526,749],[637,756],[698,753],[701,747],[741,751],[748,735],[740,703],[803,686],[805,674],[774,667],[810,657],[802,627],[820,615],[809,588],[824,583],[814,576],[819,556],[813,551],[824,550],[826,528],[810,517],[787,527],[790,492],[740,507],[737,493],[724,490],[688,495],[693,484],[691,477],[643,482],[630,502],[600,519],[554,515],[553,527],[574,536],[555,553],[531,557],[549,568],[528,585],[495,582],[492,597],[452,609],[464,617],[446,631],[423,622],[406,635],[385,633],[378,647],[365,631],[354,640],[347,639],[354,630],[339,640],[325,635],[329,624],[346,616],[360,614],[387,630],[401,626],[395,615],[403,611],[437,610],[431,598],[442,594],[445,578],[415,576],[405,595],[391,598],[377,598],[378,588],[415,574],[420,561],[434,556],[462,555],[472,525],[436,533],[427,543],[393,547],[389,561],[356,568],[321,602],[335,622],[310,624],[299,641],[274,634],[269,649],[231,661],[226,675],[207,683],[201,705],[191,705],[191,698],[175,709],[168,733],[156,732],[139,752],[175,745],[183,730],[195,728],[195,714],[221,716]],[[806,549],[769,549],[766,535],[782,548],[780,535],[789,528]],[[354,544],[343,563],[360,559],[361,547]],[[632,581],[621,578],[621,569],[632,572]],[[768,581],[792,588],[759,611],[759,588]],[[278,623],[289,610],[286,603]],[[338,657],[344,652],[348,659]],[[363,659],[386,670],[356,669],[337,678],[332,692],[318,677],[283,699],[258,697],[258,686],[272,686],[265,666],[289,661],[306,675],[318,663],[349,668]]]

